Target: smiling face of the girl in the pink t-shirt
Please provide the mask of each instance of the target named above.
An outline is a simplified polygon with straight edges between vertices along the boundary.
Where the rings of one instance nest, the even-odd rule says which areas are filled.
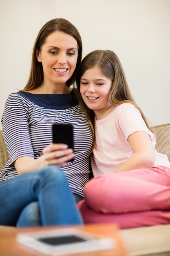
[[[80,79],[80,93],[88,108],[98,114],[105,112],[111,104],[108,95],[112,80],[106,77],[99,67],[93,67],[83,74]]]

